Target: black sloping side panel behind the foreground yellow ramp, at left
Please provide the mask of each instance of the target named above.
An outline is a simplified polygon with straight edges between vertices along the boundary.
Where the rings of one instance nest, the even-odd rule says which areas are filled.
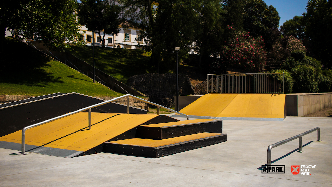
[[[0,108],[0,137],[22,130],[32,125],[68,112],[72,112],[93,104],[103,102],[97,99],[80,94],[68,94],[59,97],[44,99],[41,101],[22,103],[18,106]],[[93,112],[126,113],[126,106],[118,103],[107,103],[92,109]],[[130,113],[143,113],[146,110],[130,108]]]

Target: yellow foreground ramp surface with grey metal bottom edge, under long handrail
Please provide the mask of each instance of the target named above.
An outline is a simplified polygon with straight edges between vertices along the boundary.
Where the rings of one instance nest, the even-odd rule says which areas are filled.
[[[80,112],[26,131],[26,150],[62,157],[73,157],[140,125],[158,115]],[[0,147],[21,150],[22,130],[0,137]],[[16,147],[16,148],[13,148]]]

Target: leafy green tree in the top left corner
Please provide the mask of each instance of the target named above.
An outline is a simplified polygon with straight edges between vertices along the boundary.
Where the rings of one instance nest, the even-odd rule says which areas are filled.
[[[75,0],[11,0],[0,3],[0,27],[18,39],[42,40],[50,48],[66,48],[79,36]],[[3,47],[4,35],[0,46]],[[2,51],[2,50],[1,50]]]

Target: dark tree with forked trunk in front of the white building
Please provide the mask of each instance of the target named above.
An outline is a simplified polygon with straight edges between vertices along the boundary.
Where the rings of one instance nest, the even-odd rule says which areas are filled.
[[[82,0],[79,4],[79,23],[85,25],[88,31],[103,31],[102,45],[105,47],[105,34],[118,35],[121,7],[109,0]],[[101,37],[100,32],[98,33]]]

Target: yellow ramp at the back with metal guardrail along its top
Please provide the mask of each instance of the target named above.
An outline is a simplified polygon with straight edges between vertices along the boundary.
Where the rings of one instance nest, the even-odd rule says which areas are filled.
[[[285,94],[206,94],[180,112],[193,118],[282,121]]]

